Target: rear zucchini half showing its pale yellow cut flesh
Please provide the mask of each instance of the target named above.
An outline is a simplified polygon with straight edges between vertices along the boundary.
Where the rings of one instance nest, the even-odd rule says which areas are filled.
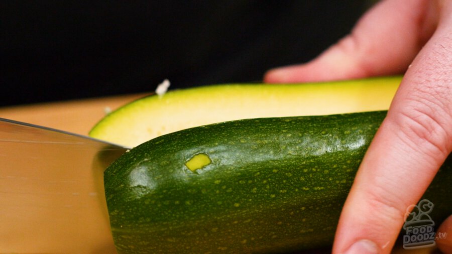
[[[401,77],[306,84],[223,84],[169,91],[106,115],[89,136],[135,147],[155,137],[222,121],[387,110]]]

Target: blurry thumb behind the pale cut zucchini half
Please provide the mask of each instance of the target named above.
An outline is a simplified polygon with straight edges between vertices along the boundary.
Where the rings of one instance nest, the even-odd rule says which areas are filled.
[[[268,71],[269,83],[352,79],[402,73],[433,33],[432,1],[384,1],[357,23],[352,33],[307,64]]]

